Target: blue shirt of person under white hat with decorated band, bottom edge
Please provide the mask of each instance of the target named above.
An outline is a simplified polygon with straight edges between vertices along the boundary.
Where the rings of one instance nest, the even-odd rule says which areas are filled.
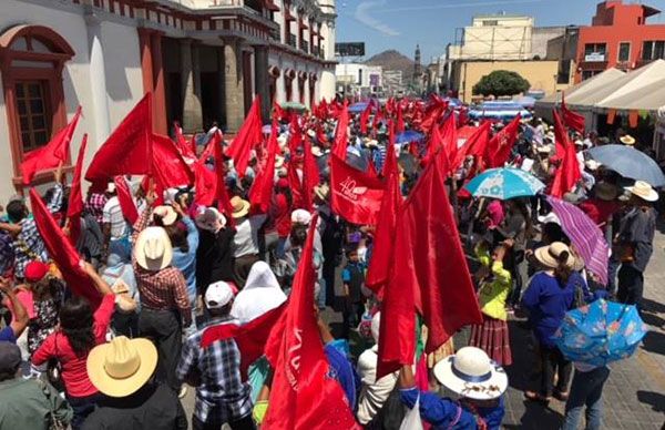
[[[416,400],[420,395],[420,417],[432,424],[433,430],[475,430],[478,422],[473,412],[451,399],[440,398],[439,396],[419,391],[417,388],[401,389],[399,396],[409,409],[413,409]],[[493,408],[477,408],[478,414],[483,419],[488,429],[499,430],[501,421],[505,414],[503,398],[499,399],[499,405]]]

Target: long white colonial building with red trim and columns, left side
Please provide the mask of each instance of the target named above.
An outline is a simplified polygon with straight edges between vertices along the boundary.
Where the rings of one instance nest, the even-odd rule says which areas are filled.
[[[70,158],[88,133],[90,160],[146,92],[163,134],[233,132],[256,94],[266,117],[273,101],[331,99],[335,18],[335,0],[2,0],[0,202],[78,105]]]

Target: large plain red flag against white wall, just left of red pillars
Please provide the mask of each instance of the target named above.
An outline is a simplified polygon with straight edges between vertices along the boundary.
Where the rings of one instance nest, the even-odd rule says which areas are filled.
[[[145,94],[98,150],[85,173],[88,181],[151,173],[151,100],[152,94]]]

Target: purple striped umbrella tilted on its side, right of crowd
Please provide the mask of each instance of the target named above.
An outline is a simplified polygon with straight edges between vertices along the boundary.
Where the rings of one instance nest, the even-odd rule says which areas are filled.
[[[610,247],[601,228],[577,206],[548,196],[552,211],[561,222],[561,228],[570,237],[575,249],[584,260],[586,269],[607,285],[607,260]]]

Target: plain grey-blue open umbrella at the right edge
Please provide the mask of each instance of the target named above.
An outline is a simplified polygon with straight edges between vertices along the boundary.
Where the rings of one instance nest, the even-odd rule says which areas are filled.
[[[589,155],[622,176],[647,182],[651,186],[664,186],[665,175],[654,158],[642,151],[624,145],[603,145],[589,150]]]

